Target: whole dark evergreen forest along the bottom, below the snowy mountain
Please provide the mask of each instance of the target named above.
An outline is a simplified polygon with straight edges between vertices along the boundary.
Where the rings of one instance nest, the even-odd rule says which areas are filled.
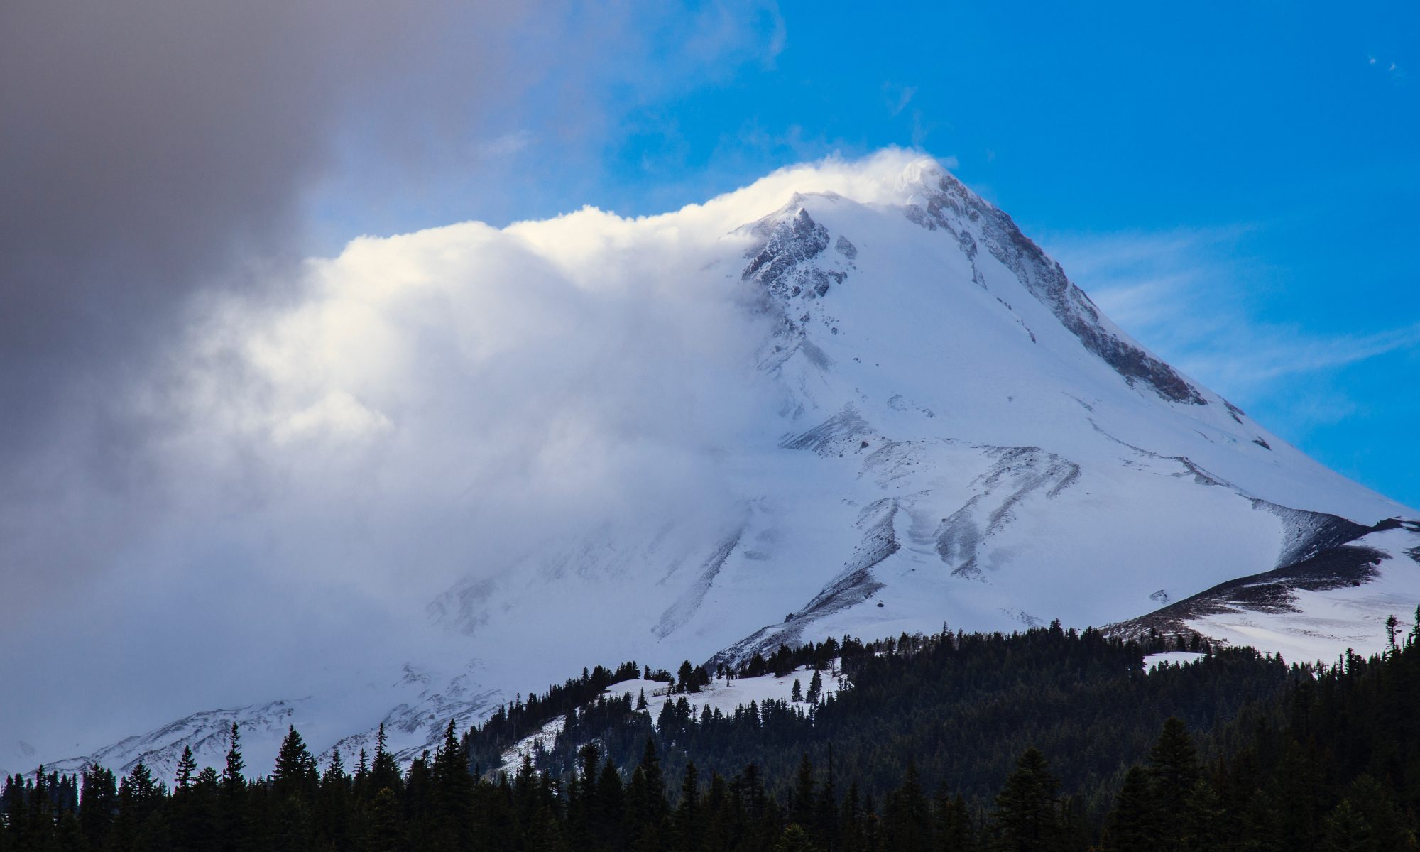
[[[1416,849],[1420,636],[1288,663],[1197,636],[851,638],[676,674],[595,667],[402,765],[321,765],[291,728],[248,771],[4,780],[0,852],[1392,852]],[[1206,653],[1146,670],[1163,649]],[[802,670],[797,700],[689,710],[714,677]],[[829,693],[824,677],[842,677]],[[670,690],[656,720],[630,679]],[[551,720],[548,748],[504,767]],[[652,724],[655,721],[655,724]],[[349,760],[349,764],[346,763]]]

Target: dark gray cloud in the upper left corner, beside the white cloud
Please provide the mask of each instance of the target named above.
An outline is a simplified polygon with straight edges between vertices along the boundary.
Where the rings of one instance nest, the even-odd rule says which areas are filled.
[[[500,11],[513,10],[518,11]],[[528,4],[0,7],[0,572],[13,613],[162,500],[162,371],[195,293],[298,256],[351,126],[426,160],[508,92]],[[430,85],[432,78],[439,85]],[[266,295],[281,295],[268,293]],[[145,506],[148,504],[148,506]]]

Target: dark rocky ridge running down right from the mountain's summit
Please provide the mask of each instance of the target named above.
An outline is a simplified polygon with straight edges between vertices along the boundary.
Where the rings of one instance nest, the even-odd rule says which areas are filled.
[[[1079,287],[1071,284],[1058,263],[1021,233],[1010,216],[977,197],[946,172],[930,175],[930,180],[924,182],[924,206],[912,204],[906,209],[909,220],[929,230],[940,227],[961,243],[970,243],[971,237],[966,231],[958,231],[953,220],[978,224],[987,251],[1015,273],[1021,284],[1041,300],[1041,304],[1049,308],[1086,349],[1115,368],[1126,382],[1130,385],[1143,382],[1173,402],[1207,403],[1197,388],[1172,366],[1108,331],[1099,321],[1099,308]]]

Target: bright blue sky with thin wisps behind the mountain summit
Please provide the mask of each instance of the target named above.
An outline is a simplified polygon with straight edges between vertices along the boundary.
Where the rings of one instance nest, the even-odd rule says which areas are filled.
[[[534,81],[470,129],[483,156],[423,192],[327,187],[327,234],[656,213],[917,146],[1163,356],[1420,506],[1413,6],[863,9],[689,4],[633,50],[594,44],[571,111],[561,81]]]

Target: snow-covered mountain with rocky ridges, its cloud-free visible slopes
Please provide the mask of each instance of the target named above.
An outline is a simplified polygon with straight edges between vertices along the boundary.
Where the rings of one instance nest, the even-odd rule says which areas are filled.
[[[582,239],[564,239],[571,220]],[[886,152],[666,216],[507,231],[586,278],[670,241],[684,261],[660,274],[738,297],[744,393],[761,408],[703,452],[727,511],[552,524],[480,565],[427,606],[440,653],[476,663],[196,714],[57,768],[142,757],[163,774],[183,744],[219,763],[233,720],[258,770],[290,723],[349,757],[385,721],[409,758],[449,717],[469,724],[586,665],[944,623],[1196,630],[1332,657],[1379,649],[1384,618],[1409,622],[1420,601],[1414,511],[1150,354],[930,159]],[[437,239],[444,251],[459,233]]]

